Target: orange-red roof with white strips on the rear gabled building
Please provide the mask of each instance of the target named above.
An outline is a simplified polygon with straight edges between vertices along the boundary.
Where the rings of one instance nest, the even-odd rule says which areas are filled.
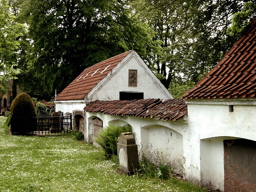
[[[125,52],[85,69],[74,81],[72,81],[56,100],[82,100],[116,65],[129,53]]]

